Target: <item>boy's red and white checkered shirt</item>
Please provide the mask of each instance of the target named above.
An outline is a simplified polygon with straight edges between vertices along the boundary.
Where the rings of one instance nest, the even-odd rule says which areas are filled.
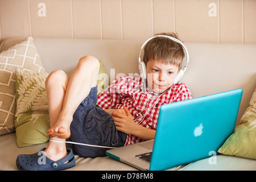
[[[160,95],[143,88],[141,77],[118,77],[98,96],[97,105],[102,109],[122,109],[125,106],[133,115],[135,123],[156,130],[159,110],[163,104],[192,98],[187,86],[180,81]],[[128,134],[125,145],[142,141],[141,138]]]

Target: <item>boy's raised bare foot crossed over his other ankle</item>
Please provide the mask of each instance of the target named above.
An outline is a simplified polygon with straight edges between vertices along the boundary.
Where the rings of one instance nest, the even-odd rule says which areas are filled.
[[[59,137],[67,139],[70,137],[70,122],[58,119],[55,125],[47,131],[49,137]]]

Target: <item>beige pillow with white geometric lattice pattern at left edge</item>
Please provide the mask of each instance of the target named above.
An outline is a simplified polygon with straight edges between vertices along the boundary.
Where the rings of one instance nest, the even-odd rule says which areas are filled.
[[[15,131],[15,68],[45,72],[31,37],[0,53],[0,135]]]

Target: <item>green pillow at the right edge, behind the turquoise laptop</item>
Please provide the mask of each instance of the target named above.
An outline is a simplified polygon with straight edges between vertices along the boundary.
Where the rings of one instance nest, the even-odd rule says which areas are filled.
[[[225,155],[256,159],[256,89],[241,118],[240,125],[218,149],[218,152]]]

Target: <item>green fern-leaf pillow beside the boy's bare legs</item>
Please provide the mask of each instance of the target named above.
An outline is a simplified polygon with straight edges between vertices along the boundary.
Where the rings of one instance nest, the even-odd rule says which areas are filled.
[[[15,130],[18,147],[47,142],[49,114],[44,82],[48,73],[16,69]]]

